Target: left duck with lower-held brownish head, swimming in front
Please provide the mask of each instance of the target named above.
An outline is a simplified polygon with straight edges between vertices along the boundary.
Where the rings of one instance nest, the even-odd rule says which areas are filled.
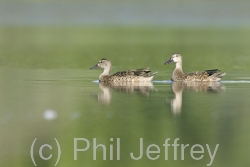
[[[142,68],[137,70],[128,70],[128,71],[120,71],[116,72],[115,74],[110,75],[109,72],[112,68],[111,61],[103,58],[101,59],[95,66],[91,67],[90,69],[94,68],[103,68],[103,73],[99,76],[100,82],[144,82],[144,81],[151,81],[154,75],[157,72],[150,73],[149,68]]]

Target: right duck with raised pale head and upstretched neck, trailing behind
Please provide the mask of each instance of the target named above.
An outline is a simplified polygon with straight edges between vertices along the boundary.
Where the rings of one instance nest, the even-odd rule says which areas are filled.
[[[220,72],[218,69],[184,74],[182,71],[182,56],[180,54],[173,54],[165,64],[169,64],[171,62],[176,63],[171,77],[172,81],[217,82],[220,81],[224,75],[226,75],[225,72]]]

